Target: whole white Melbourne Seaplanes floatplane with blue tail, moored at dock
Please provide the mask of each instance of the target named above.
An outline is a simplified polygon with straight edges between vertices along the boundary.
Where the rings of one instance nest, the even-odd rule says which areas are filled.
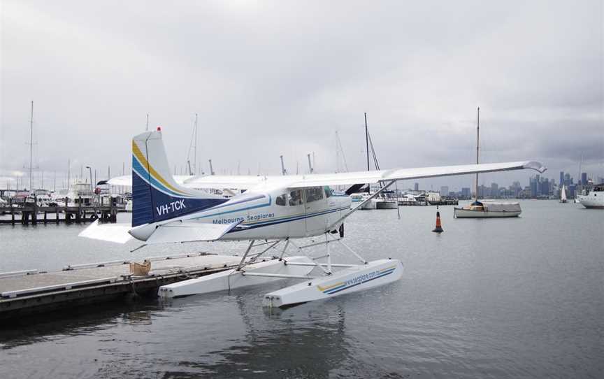
[[[296,176],[192,176],[177,183],[170,174],[158,127],[157,131],[132,139],[131,224],[95,222],[80,236],[115,243],[136,238],[143,242],[141,247],[157,243],[249,241],[236,268],[161,286],[158,295],[171,298],[286,278],[301,280],[264,296],[263,306],[284,308],[387,285],[401,278],[403,264],[399,259],[370,262],[343,242],[346,218],[396,180],[520,169],[541,173],[546,170],[538,162],[508,162]],[[114,183],[124,184],[123,178]],[[351,208],[350,194],[369,183],[382,183],[382,187]],[[335,185],[350,187],[346,192],[336,192],[330,187]],[[194,187],[246,190],[225,199]],[[309,237],[314,238],[310,243]],[[342,246],[359,263],[332,262],[333,243]],[[324,247],[324,254],[313,257],[307,253],[308,248],[317,246]],[[290,254],[291,250],[295,255]],[[275,255],[267,257],[273,252]],[[312,271],[319,274],[313,275]]]

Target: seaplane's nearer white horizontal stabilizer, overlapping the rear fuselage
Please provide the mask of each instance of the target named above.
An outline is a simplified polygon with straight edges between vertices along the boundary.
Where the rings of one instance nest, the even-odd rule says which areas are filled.
[[[168,224],[159,225],[146,243],[151,245],[170,242],[216,241],[241,222],[243,220],[232,224],[205,224],[191,221],[169,222]]]

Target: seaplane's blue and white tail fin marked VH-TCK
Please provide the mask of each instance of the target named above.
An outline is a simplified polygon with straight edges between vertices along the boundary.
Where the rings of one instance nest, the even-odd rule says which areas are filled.
[[[132,138],[132,227],[171,220],[225,201],[174,181],[159,128]]]

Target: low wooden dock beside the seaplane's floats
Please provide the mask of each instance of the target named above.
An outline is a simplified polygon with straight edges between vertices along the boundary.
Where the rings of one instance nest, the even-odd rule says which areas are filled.
[[[148,257],[148,275],[134,276],[128,260],[64,266],[62,271],[0,273],[0,320],[85,304],[155,296],[161,285],[232,269],[241,257],[204,252]]]

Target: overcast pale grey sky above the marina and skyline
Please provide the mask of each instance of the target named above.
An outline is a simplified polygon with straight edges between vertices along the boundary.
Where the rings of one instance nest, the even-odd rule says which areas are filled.
[[[603,1],[0,1],[0,177],[122,173],[147,113],[217,173],[538,160],[604,176]],[[341,163],[340,163],[341,166]],[[535,172],[488,174],[509,185]],[[39,172],[36,174],[39,182]],[[28,180],[25,180],[27,182]],[[470,178],[425,185],[469,187]],[[405,183],[408,187],[410,183]],[[0,182],[0,186],[2,183]],[[34,187],[36,185],[34,184]],[[57,185],[58,187],[58,185]]]

